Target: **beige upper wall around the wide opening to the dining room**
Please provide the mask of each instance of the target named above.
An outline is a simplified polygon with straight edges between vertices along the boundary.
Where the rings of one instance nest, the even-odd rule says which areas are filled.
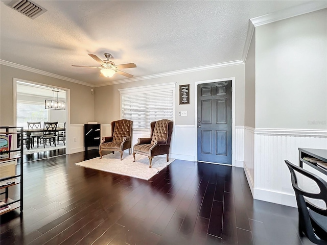
[[[0,125],[13,125],[13,78],[70,89],[71,124],[94,121],[95,95],[91,87],[6,65],[1,65],[0,71]]]

